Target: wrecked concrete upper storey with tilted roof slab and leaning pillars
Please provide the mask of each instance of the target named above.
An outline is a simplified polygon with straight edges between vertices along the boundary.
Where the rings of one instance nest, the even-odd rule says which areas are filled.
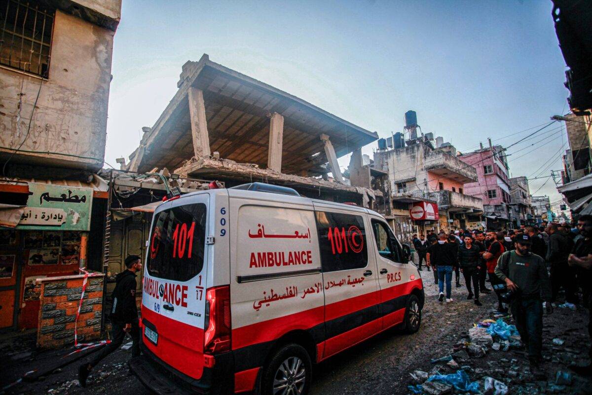
[[[376,208],[381,191],[351,185],[337,158],[378,139],[278,88],[212,62],[186,62],[178,91],[123,169],[284,185],[311,198]]]

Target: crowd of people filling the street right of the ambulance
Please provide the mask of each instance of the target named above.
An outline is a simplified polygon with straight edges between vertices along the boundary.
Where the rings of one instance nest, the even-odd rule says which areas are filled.
[[[477,306],[482,306],[481,294],[496,293],[497,313],[510,310],[535,370],[542,361],[543,310],[551,314],[554,307],[577,310],[592,306],[592,216],[581,216],[574,226],[550,222],[497,232],[429,231],[414,235],[413,246],[419,257],[418,269],[423,271],[425,262],[425,268],[433,272],[441,303],[453,302],[453,274],[456,287],[462,287],[462,273],[466,298]],[[592,338],[592,314],[590,317]],[[572,369],[592,375],[590,364]]]

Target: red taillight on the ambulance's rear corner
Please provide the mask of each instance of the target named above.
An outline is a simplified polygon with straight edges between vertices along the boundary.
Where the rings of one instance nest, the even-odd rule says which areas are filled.
[[[230,351],[230,286],[209,288],[205,292],[204,352]]]

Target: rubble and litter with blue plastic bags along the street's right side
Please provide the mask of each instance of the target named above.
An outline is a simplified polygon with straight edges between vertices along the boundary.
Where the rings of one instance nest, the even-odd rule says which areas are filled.
[[[432,359],[429,372],[410,372],[410,394],[530,395],[587,394],[589,381],[572,374],[568,366],[580,350],[564,346],[565,339],[543,341],[544,373],[533,374],[525,347],[510,316],[491,314],[462,333],[449,355]],[[543,332],[554,327],[548,325]],[[574,332],[566,329],[566,332]],[[582,357],[584,355],[582,354]],[[549,363],[550,362],[550,363]]]

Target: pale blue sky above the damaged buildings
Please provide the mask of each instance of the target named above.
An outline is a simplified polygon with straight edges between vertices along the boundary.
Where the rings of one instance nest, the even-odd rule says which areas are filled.
[[[462,152],[488,137],[510,146],[568,111],[551,9],[540,0],[123,0],[105,160],[127,159],[175,94],[181,66],[204,53],[379,137],[402,131],[414,110],[424,133]],[[561,199],[553,179],[532,178],[562,168],[561,126],[507,151],[511,176],[528,176],[530,192],[552,203]]]

